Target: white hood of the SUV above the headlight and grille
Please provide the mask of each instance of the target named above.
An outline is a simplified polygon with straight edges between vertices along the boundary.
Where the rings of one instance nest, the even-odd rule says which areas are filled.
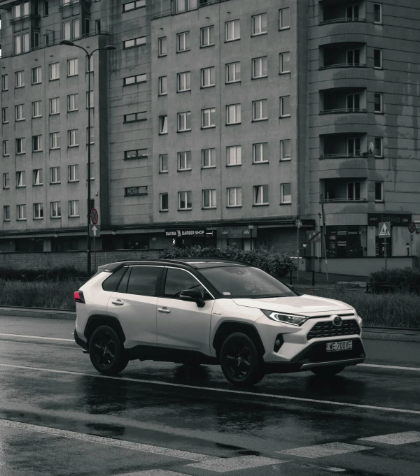
[[[234,298],[237,305],[246,308],[258,308],[277,312],[290,312],[298,315],[314,315],[323,312],[353,311],[351,305],[335,301],[335,299],[320,298],[318,296],[289,296],[286,298]]]

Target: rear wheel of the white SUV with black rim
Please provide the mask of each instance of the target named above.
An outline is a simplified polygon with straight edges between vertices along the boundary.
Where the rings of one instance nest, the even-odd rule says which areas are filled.
[[[89,340],[92,365],[102,375],[117,375],[127,366],[128,359],[118,333],[110,326],[99,326]]]

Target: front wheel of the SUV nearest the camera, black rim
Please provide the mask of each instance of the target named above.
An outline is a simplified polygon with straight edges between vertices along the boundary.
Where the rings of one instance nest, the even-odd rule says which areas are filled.
[[[241,332],[232,333],[225,338],[220,363],[226,379],[238,387],[251,386],[264,377],[262,356],[253,340]]]

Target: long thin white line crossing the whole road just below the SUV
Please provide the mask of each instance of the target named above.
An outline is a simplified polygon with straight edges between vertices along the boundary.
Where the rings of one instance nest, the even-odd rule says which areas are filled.
[[[181,389],[214,391],[221,394],[243,395],[247,397],[254,396],[254,397],[273,398],[274,400],[290,400],[290,401],[308,402],[308,403],[325,403],[326,405],[335,405],[337,407],[363,408],[363,410],[381,410],[384,412],[398,412],[398,413],[410,413],[410,414],[420,415],[420,410],[406,410],[405,408],[377,407],[375,405],[362,405],[361,403],[346,403],[346,402],[335,402],[330,400],[316,400],[315,398],[303,398],[303,397],[293,397],[293,396],[275,395],[275,394],[262,394],[262,393],[251,392],[251,391],[218,389],[215,387],[200,387],[200,385],[174,384],[172,382],[162,382],[161,380],[143,380],[143,379],[137,379],[132,377],[111,377],[109,375],[101,375],[99,373],[92,374],[92,373],[71,372],[70,370],[55,370],[52,368],[15,366],[11,363],[0,363],[0,367],[21,368],[22,370],[37,370],[39,372],[49,372],[49,373],[62,373],[64,375],[77,375],[80,377],[104,378],[109,380],[120,380],[123,382],[136,382],[140,384],[162,385],[165,387],[178,387]]]

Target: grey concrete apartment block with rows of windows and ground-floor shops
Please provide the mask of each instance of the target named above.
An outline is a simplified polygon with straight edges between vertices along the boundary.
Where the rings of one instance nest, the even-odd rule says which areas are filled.
[[[343,260],[380,268],[379,222],[393,225],[388,256],[420,254],[419,234],[407,229],[420,226],[412,1],[0,0],[0,8],[1,251],[85,249],[89,73],[81,50],[57,44],[68,38],[90,51],[117,48],[95,53],[90,73],[102,249],[183,242],[295,253],[300,219],[302,254],[304,231],[322,225],[323,195],[332,269]],[[59,114],[50,112],[54,98]],[[57,132],[61,145],[51,147]]]

